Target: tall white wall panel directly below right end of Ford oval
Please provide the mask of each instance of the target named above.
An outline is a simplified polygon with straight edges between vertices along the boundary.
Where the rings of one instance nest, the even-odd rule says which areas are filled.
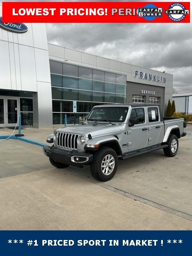
[[[34,48],[19,45],[21,87],[24,91],[37,91]],[[30,60],[30,61],[29,61]]]

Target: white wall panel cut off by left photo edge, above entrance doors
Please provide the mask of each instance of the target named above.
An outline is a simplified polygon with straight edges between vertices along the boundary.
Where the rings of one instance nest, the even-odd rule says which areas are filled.
[[[11,89],[8,42],[0,40],[0,89]]]

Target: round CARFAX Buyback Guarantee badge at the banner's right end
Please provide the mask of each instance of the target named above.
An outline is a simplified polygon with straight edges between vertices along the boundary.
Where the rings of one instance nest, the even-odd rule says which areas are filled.
[[[165,10],[165,14],[175,22],[183,20],[186,14],[189,14],[189,10],[186,10],[185,6],[180,3],[174,3],[169,6],[168,10]]]

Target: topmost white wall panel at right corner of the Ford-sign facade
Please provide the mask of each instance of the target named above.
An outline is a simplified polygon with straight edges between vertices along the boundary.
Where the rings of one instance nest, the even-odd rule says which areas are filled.
[[[34,47],[48,50],[47,34],[44,23],[32,23]]]

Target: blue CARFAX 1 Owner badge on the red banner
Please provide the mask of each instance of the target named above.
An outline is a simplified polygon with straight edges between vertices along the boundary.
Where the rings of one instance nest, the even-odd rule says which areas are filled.
[[[162,7],[157,7],[154,4],[147,4],[142,8],[138,8],[138,16],[146,20],[154,20],[155,18],[162,17]]]

